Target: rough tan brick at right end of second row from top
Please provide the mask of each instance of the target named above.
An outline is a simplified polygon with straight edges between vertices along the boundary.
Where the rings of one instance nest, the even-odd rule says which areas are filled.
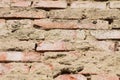
[[[97,14],[97,15],[96,15]],[[117,9],[87,9],[85,10],[85,16],[89,19],[119,19],[120,11]]]

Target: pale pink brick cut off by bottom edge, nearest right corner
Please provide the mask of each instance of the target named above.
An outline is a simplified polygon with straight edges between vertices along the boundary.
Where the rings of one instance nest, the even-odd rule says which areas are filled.
[[[111,74],[92,75],[91,80],[119,80],[119,77]]]

